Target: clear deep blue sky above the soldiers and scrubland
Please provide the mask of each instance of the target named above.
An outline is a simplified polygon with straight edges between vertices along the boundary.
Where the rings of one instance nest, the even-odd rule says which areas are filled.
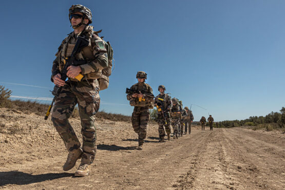
[[[115,70],[101,107],[131,115],[125,89],[147,72],[192,106],[195,121],[246,119],[285,106],[285,1],[3,1],[0,85],[12,95],[50,100],[51,66],[72,31],[68,9],[91,9],[110,41]],[[27,99],[25,99],[27,100]]]

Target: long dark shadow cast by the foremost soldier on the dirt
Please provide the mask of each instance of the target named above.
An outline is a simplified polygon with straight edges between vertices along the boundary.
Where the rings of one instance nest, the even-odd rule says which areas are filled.
[[[0,179],[1,179],[0,186],[8,184],[27,185],[31,183],[37,183],[37,182],[71,177],[71,176],[73,176],[73,174],[70,173],[59,173],[59,174],[49,173],[49,174],[32,175],[18,171],[0,172]]]

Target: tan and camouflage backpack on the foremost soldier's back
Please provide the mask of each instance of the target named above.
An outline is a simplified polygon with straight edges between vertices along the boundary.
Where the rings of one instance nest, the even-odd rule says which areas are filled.
[[[98,33],[100,33],[102,30],[99,30],[97,32],[94,32],[96,35],[98,35]],[[103,37],[101,37],[101,39],[103,40]],[[110,42],[104,42],[105,48],[107,50],[107,56],[108,56],[108,67],[102,70],[102,76],[101,78],[98,79],[99,82],[99,90],[105,90],[108,88],[109,86],[109,77],[112,73],[112,61],[113,61],[113,48],[110,44]],[[115,60],[114,60],[115,61]],[[115,64],[114,64],[115,65]]]

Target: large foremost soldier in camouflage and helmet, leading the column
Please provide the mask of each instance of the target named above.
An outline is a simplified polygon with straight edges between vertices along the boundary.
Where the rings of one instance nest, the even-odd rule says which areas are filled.
[[[61,93],[55,100],[51,121],[63,139],[68,156],[63,170],[71,169],[81,158],[81,164],[74,176],[87,176],[90,164],[96,155],[96,127],[94,116],[99,110],[99,83],[102,69],[108,67],[107,50],[100,37],[94,34],[91,11],[82,5],[72,5],[69,9],[69,21],[73,32],[63,40],[52,65],[51,81],[62,87]],[[89,45],[75,54],[74,65],[67,68],[68,80],[61,79],[61,72],[77,42],[78,36],[89,41]],[[75,79],[79,74],[84,78]],[[78,104],[81,119],[82,150],[75,132],[68,122],[74,106]]]

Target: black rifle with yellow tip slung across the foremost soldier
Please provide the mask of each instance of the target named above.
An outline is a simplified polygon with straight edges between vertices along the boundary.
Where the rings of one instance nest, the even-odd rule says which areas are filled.
[[[89,44],[89,41],[87,39],[85,39],[84,37],[81,37],[81,36],[77,37],[77,42],[75,43],[75,46],[74,46],[74,48],[72,50],[70,58],[69,59],[65,59],[65,61],[64,61],[65,65],[64,65],[64,67],[62,69],[62,72],[61,72],[61,79],[62,80],[66,81],[66,79],[67,79],[67,75],[66,75],[67,74],[67,67],[69,67],[71,65],[75,65],[75,66],[78,65],[78,61],[75,60],[75,54],[80,52],[82,50],[82,48],[88,46],[88,44]],[[77,77],[75,77],[75,79],[77,79],[79,81],[81,81],[82,78],[83,78],[82,74],[79,74]],[[54,97],[52,99],[52,102],[51,102],[50,106],[48,107],[48,110],[47,110],[47,113],[46,113],[46,116],[45,116],[45,120],[48,119],[48,116],[50,114],[52,105],[53,105],[55,99],[59,97],[59,95],[61,93],[61,90],[62,90],[62,87],[60,87],[60,86],[55,85],[53,87],[53,90],[51,91],[51,93],[52,93],[52,95]]]

